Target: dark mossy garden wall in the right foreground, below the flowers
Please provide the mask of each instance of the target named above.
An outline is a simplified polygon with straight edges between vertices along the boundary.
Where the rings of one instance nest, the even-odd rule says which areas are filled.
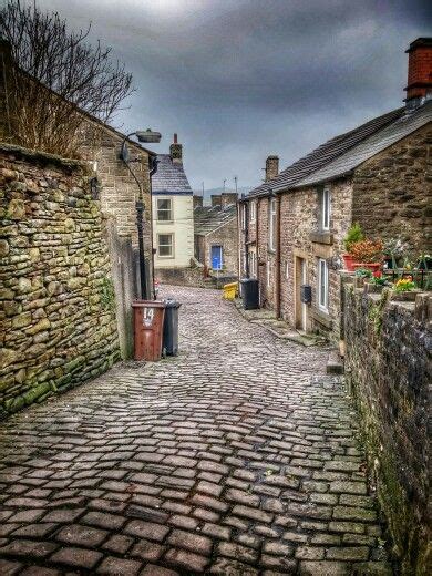
[[[432,296],[394,302],[346,284],[347,381],[402,574],[426,574]],[[429,552],[430,554],[430,552]]]

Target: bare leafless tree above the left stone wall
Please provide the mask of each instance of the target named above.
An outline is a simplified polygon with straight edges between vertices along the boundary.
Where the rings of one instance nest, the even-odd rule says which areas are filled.
[[[76,155],[85,113],[110,122],[132,92],[132,75],[111,60],[111,48],[70,31],[58,12],[9,0],[0,9],[0,37],[10,44],[9,102],[13,138],[32,148]],[[84,112],[84,114],[83,114]]]

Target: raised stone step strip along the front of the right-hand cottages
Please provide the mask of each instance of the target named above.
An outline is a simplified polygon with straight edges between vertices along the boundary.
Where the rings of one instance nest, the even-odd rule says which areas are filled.
[[[320,336],[309,335],[300,330],[296,330],[285,320],[278,320],[272,310],[258,308],[257,310],[244,310],[241,299],[236,298],[234,305],[238,312],[249,322],[257,323],[268,330],[276,338],[290,340],[297,344],[305,347],[320,346],[327,343],[327,340]]]

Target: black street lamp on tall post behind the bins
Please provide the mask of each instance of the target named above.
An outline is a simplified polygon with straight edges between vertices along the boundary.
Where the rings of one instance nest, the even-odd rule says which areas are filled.
[[[144,215],[144,195],[143,195],[143,187],[141,185],[141,182],[136,177],[136,174],[131,168],[131,158],[128,155],[127,150],[127,141],[131,136],[136,136],[138,138],[138,142],[147,142],[147,143],[158,143],[161,142],[161,133],[160,132],[153,132],[152,130],[140,130],[136,132],[131,132],[131,134],[127,134],[127,136],[124,137],[122,142],[122,146],[120,150],[120,158],[125,163],[128,172],[131,173],[132,177],[136,182],[138,186],[138,197],[135,202],[135,209],[136,209],[136,227],[138,230],[138,258],[140,258],[140,291],[141,291],[141,298],[143,300],[148,299],[147,294],[147,282],[145,277],[145,260],[144,260],[144,234],[143,234],[143,215]],[[150,177],[150,192],[152,197],[152,176],[157,171],[157,160],[155,156],[148,156],[148,177]],[[152,202],[152,199],[151,199]],[[153,248],[152,248],[153,250]],[[152,255],[153,258],[153,255]],[[154,295],[154,289],[153,289]]]

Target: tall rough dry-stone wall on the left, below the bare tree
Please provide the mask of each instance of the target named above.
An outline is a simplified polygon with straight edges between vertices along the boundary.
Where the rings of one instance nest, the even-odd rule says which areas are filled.
[[[75,161],[0,145],[0,416],[119,358],[100,202]]]

